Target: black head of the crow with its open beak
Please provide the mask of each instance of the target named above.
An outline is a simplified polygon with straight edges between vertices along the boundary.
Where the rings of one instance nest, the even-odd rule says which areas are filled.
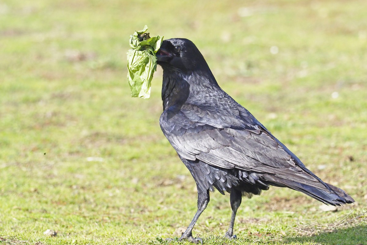
[[[203,55],[195,44],[188,39],[172,38],[162,42],[157,55],[157,64],[163,70],[174,69],[180,72],[208,69]]]

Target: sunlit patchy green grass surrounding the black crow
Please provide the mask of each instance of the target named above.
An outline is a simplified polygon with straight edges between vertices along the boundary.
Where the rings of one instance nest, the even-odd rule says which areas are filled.
[[[192,40],[225,91],[356,200],[322,212],[316,200],[272,187],[243,200],[238,239],[227,241],[229,196],[214,192],[194,235],[205,244],[366,244],[363,6],[1,1],[0,244],[177,243],[165,238],[196,212],[195,182],[160,131],[161,69],[149,101],[130,97],[128,37],[144,25]]]

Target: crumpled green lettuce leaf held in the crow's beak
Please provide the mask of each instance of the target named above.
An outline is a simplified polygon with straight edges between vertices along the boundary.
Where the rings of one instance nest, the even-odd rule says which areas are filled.
[[[127,51],[127,79],[130,85],[131,97],[149,99],[153,73],[157,70],[156,53],[163,37],[150,37],[146,33],[148,26],[135,31],[130,36],[130,47]]]

